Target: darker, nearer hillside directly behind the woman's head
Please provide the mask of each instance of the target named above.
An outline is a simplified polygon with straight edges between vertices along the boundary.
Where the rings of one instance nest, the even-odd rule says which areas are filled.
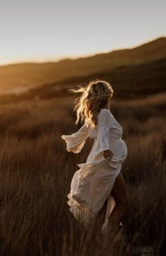
[[[26,99],[50,99],[53,97],[72,96],[68,91],[76,85],[85,85],[89,80],[100,78],[108,80],[114,89],[114,97],[139,98],[166,91],[166,58],[137,66],[122,66],[112,71],[94,73],[68,78],[57,83],[48,83],[28,90],[20,95],[0,97],[1,102]]]

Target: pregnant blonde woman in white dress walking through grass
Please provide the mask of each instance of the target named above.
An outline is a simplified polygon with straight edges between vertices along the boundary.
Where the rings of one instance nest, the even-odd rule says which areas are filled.
[[[107,204],[106,216],[101,233],[108,226],[119,226],[129,204],[125,181],[120,173],[122,162],[127,157],[127,146],[122,140],[122,126],[110,112],[110,99],[113,88],[105,80],[92,80],[86,87],[73,92],[82,93],[75,100],[74,111],[77,121],[81,118],[84,125],[72,135],[61,135],[68,152],[79,153],[88,137],[94,145],[86,163],[77,164],[79,170],[72,178],[68,205],[70,212],[85,225],[91,217]],[[106,202],[107,200],[107,202]]]

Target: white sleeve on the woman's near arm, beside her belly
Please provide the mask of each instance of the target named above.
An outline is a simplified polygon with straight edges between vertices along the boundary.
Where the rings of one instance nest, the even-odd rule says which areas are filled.
[[[100,152],[109,150],[109,130],[113,126],[113,118],[108,110],[103,110],[98,118],[98,145]]]

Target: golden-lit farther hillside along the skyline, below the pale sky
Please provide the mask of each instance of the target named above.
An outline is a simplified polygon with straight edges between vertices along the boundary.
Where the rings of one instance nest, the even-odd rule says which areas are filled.
[[[0,66],[0,93],[27,90],[44,83],[56,83],[115,70],[119,66],[136,66],[166,58],[166,37],[133,49],[111,51],[75,60],[52,63],[19,63]]]

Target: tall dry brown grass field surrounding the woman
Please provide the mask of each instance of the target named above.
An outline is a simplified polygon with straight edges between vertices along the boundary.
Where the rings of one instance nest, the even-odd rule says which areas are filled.
[[[124,128],[128,156],[122,165],[131,203],[125,233],[100,235],[100,221],[89,230],[67,205],[77,164],[86,161],[93,140],[81,154],[65,151],[60,135],[78,130],[74,99],[1,104],[0,255],[129,255],[125,240],[135,232],[158,255],[166,238],[165,98],[115,101],[112,113]],[[131,249],[131,255],[141,255]]]

